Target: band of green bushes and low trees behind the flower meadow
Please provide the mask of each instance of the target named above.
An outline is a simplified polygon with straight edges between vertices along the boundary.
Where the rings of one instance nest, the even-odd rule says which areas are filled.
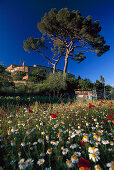
[[[5,71],[5,67],[0,65],[0,93],[1,94],[32,94],[32,95],[47,95],[47,96],[60,96],[68,95],[74,96],[75,90],[97,90],[104,92],[106,98],[110,93],[114,95],[114,87],[105,85],[104,81],[96,80],[95,83],[89,79],[83,79],[80,76],[76,79],[73,77],[66,77],[61,72],[45,73],[41,69],[32,71],[26,83],[14,84],[14,81],[23,81],[25,72],[16,71],[11,74]],[[25,82],[25,80],[24,80]]]

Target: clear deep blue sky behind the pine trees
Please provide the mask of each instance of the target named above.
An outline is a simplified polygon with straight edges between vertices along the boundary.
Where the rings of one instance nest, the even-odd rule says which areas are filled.
[[[100,34],[110,51],[101,57],[87,54],[80,64],[69,61],[68,71],[92,82],[102,75],[106,84],[114,86],[114,0],[0,0],[0,63],[9,66],[25,61],[26,65],[48,66],[40,55],[24,51],[23,40],[41,36],[37,23],[51,8],[79,10],[82,16],[91,15],[93,21],[100,21]],[[63,65],[61,61],[57,67],[63,69]]]

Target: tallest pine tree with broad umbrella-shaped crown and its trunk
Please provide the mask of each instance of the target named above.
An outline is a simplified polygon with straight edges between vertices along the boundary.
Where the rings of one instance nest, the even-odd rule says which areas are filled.
[[[62,55],[66,56],[64,72],[69,57],[81,62],[86,59],[86,52],[94,51],[97,56],[101,56],[110,48],[99,34],[99,21],[92,22],[91,16],[84,18],[79,11],[69,11],[67,8],[59,11],[51,9],[38,23],[38,29],[52,39],[56,46],[62,45]]]

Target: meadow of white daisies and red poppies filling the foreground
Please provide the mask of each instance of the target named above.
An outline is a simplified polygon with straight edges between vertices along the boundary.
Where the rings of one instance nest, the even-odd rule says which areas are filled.
[[[114,101],[0,108],[0,169],[114,170]]]

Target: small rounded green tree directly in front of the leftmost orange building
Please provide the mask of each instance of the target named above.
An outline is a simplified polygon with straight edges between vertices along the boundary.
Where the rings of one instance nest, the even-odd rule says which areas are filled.
[[[26,75],[24,71],[15,71],[12,74],[13,80],[20,81],[23,79],[23,77]]]

